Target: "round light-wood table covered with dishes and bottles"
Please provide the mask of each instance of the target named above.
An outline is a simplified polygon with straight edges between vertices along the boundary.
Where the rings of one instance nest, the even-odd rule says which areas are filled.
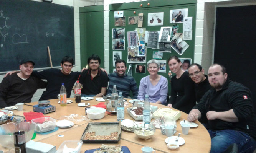
[[[61,120],[63,117],[62,116],[69,116],[70,114],[78,114],[78,115],[85,115],[85,107],[79,107],[75,103],[74,98],[68,98],[69,100],[73,100],[73,103],[67,104],[67,106],[60,106],[58,104],[58,99],[52,99],[50,100],[52,105],[56,106],[56,111],[51,112],[49,114],[45,114],[45,116],[50,116],[54,119],[56,119],[56,122],[58,120]],[[130,99],[127,99],[129,101]],[[83,101],[82,102],[88,102],[90,103],[91,107],[93,105],[96,105],[100,103],[99,101],[96,101],[96,98],[93,100],[89,101]],[[37,104],[37,102],[32,102],[32,103],[26,103],[28,105],[32,106],[24,106],[23,111],[17,111],[14,110],[14,114],[18,115],[23,115],[23,112],[29,112],[33,111],[33,105]],[[153,106],[157,106],[158,108],[162,107],[167,107],[161,104],[155,104],[151,103]],[[125,119],[130,119],[134,120],[127,112],[127,107],[131,107],[132,104],[129,103],[128,106],[125,107]],[[176,109],[173,109],[176,110]],[[174,134],[175,136],[178,135],[178,133],[182,133],[181,126],[180,126],[180,121],[185,119],[187,120],[188,114],[181,112],[182,116],[179,120],[177,120],[177,132]],[[59,148],[62,142],[65,140],[80,140],[81,136],[88,125],[89,122],[117,122],[116,119],[116,114],[109,114],[109,112],[106,112],[105,117],[99,120],[88,120],[88,121],[82,121],[82,122],[74,122],[73,127],[69,127],[66,129],[61,129],[50,133],[48,135],[40,135],[37,134],[36,138],[34,141],[38,142],[43,142],[43,143],[49,143],[51,145],[55,145],[56,149]],[[198,124],[198,127],[191,128],[189,130],[188,135],[182,134],[181,137],[184,138],[185,144],[181,145],[178,149],[176,150],[170,150],[167,148],[167,145],[165,143],[165,139],[167,138],[166,135],[162,135],[160,129],[156,129],[155,134],[153,135],[152,138],[144,140],[137,138],[136,135],[133,132],[128,132],[125,130],[122,130],[121,132],[121,140],[118,143],[114,144],[107,144],[107,145],[122,145],[122,146],[127,146],[131,153],[140,153],[141,148],[143,146],[150,146],[156,150],[157,153],[170,153],[170,152],[179,152],[179,153],[208,153],[210,152],[211,148],[211,138],[208,133],[208,131],[205,129],[205,127],[198,121],[195,123]],[[59,135],[64,135],[64,137],[59,137]],[[86,144],[83,143],[82,148],[81,148],[81,153],[84,153],[84,151],[88,149],[95,149],[99,148],[101,146],[101,143],[90,143]],[[6,150],[6,148],[3,148],[0,146],[0,150]]]

